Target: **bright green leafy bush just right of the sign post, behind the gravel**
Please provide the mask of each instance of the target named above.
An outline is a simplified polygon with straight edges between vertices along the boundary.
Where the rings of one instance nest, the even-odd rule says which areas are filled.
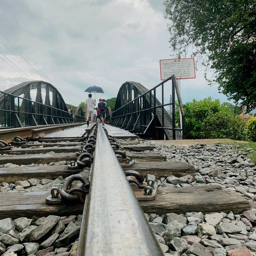
[[[186,138],[244,139],[245,122],[235,117],[233,110],[220,100],[211,97],[192,100],[183,105],[185,112]]]

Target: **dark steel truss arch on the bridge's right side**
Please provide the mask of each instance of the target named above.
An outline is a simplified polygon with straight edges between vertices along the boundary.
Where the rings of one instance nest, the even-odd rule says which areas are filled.
[[[141,98],[137,98],[142,94],[144,95]],[[160,101],[145,86],[138,82],[127,81],[122,84],[118,91],[111,124],[145,135],[156,133],[154,128],[156,126],[172,127],[172,119],[165,108],[157,108],[160,105]],[[124,107],[122,108],[122,106]],[[140,111],[140,109],[146,111]],[[117,116],[118,118],[115,118]],[[179,137],[180,132],[177,132],[176,135]],[[162,129],[158,131],[157,138],[172,139],[172,130]]]

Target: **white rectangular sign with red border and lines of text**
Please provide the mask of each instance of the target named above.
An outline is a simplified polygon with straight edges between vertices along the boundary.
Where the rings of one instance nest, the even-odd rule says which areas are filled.
[[[196,78],[194,58],[159,60],[161,80],[166,80],[173,74],[177,79]]]

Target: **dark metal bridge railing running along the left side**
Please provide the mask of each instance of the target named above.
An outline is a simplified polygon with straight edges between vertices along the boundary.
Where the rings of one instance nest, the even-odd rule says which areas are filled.
[[[68,124],[84,122],[84,116],[73,115],[65,110],[0,91],[0,124],[4,127],[23,127],[42,124]]]

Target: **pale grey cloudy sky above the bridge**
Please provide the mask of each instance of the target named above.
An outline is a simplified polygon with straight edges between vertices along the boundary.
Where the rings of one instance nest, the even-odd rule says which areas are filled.
[[[1,0],[0,90],[28,77],[44,80],[4,44],[3,30],[66,103],[78,106],[87,98],[84,90],[94,84],[104,89],[106,99],[115,97],[126,81],[152,88],[160,82],[159,60],[173,54],[163,11],[162,0]],[[4,62],[2,54],[26,75]],[[227,101],[197,68],[196,79],[181,80],[183,102],[208,96]]]

